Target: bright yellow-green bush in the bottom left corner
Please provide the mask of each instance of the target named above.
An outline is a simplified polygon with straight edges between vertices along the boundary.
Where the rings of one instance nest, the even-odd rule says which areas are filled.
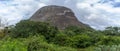
[[[21,41],[8,38],[0,41],[0,51],[27,51],[27,46]]]

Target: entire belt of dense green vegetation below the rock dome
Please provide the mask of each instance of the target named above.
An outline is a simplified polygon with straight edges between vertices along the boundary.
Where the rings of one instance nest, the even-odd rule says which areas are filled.
[[[120,51],[120,27],[105,30],[23,20],[0,31],[0,51]]]

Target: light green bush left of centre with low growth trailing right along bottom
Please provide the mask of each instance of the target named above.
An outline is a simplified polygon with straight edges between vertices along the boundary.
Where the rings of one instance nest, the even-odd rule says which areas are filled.
[[[74,48],[58,46],[55,44],[48,44],[43,36],[32,36],[25,41],[28,51],[77,51]]]

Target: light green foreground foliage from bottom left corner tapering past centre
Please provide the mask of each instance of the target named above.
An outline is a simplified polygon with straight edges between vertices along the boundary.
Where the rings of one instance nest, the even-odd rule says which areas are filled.
[[[0,40],[0,51],[77,51],[71,47],[58,46],[46,42],[44,36]]]

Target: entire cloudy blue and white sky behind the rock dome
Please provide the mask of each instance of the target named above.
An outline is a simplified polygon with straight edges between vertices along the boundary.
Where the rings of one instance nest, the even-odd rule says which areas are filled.
[[[4,24],[16,24],[47,5],[70,8],[79,21],[97,30],[120,27],[120,0],[0,0],[0,19]]]

